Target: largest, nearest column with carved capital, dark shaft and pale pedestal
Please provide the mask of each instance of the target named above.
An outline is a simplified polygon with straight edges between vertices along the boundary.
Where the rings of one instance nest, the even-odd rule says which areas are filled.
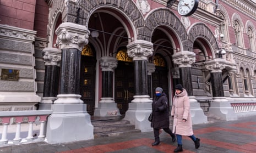
[[[50,144],[93,139],[90,115],[79,95],[81,49],[90,32],[83,25],[63,22],[56,34],[62,50],[61,87],[48,117],[46,138]]]

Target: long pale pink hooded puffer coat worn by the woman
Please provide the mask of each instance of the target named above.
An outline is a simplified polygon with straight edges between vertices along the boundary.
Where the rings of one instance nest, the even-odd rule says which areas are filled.
[[[173,129],[172,133],[179,135],[193,135],[192,120],[190,116],[190,103],[186,89],[180,94],[175,93],[172,101]],[[186,119],[183,122],[182,119]]]

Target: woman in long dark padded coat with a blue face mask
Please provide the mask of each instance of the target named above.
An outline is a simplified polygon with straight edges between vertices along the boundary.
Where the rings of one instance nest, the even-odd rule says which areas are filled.
[[[160,145],[159,130],[162,128],[164,131],[171,135],[172,142],[176,141],[175,134],[170,129],[169,111],[166,94],[162,88],[156,88],[156,96],[152,102],[153,119],[151,127],[154,128],[155,142],[152,146]]]

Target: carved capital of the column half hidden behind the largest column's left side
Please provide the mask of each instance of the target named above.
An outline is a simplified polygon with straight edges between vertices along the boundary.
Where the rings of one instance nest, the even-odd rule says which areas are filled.
[[[45,48],[42,50],[45,65],[61,66],[61,50],[58,48]]]

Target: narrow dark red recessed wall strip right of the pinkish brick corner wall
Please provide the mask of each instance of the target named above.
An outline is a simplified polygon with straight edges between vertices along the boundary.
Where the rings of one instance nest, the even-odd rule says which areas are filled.
[[[36,0],[36,12],[34,30],[37,31],[37,37],[47,37],[49,8],[44,0]]]

